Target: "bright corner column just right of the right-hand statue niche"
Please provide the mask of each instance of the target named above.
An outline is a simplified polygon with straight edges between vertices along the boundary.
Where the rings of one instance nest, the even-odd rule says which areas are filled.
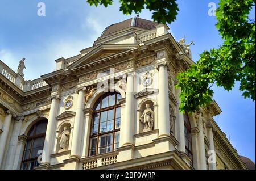
[[[158,71],[158,129],[159,138],[170,136],[169,95],[167,66],[159,65]]]

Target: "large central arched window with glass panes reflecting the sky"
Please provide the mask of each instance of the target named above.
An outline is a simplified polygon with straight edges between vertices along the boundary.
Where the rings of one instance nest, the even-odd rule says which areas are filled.
[[[119,147],[121,108],[117,92],[101,96],[94,105],[90,128],[89,155],[107,153]]]

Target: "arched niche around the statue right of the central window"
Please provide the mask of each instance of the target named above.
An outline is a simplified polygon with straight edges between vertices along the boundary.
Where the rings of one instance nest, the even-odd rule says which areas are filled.
[[[157,124],[157,107],[156,101],[154,99],[144,99],[141,103],[139,103],[137,108],[137,134],[142,133],[144,131],[148,131],[144,129],[144,124],[141,121],[141,117],[143,115],[144,110],[146,109],[146,104],[149,105],[149,108],[154,112],[154,123],[152,125],[152,130],[158,129]]]

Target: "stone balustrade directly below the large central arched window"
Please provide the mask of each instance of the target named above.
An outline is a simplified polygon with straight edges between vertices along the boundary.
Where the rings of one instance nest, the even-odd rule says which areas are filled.
[[[105,155],[105,157],[104,157]],[[110,165],[113,163],[117,163],[117,154],[115,153],[107,153],[104,155],[94,155],[93,157],[87,157],[84,158],[82,163],[82,169],[93,169],[96,167],[104,166],[104,165]]]

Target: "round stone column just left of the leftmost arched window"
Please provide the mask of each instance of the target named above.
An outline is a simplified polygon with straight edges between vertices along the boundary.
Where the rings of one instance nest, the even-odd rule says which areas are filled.
[[[9,146],[9,151],[8,151],[8,156],[7,156],[7,161],[6,161],[6,169],[11,170],[14,169],[14,158],[16,154],[16,149],[18,146],[18,136],[20,134],[20,129],[22,127],[22,121],[24,117],[16,117],[15,122],[14,122],[14,127],[13,127],[13,133],[11,135],[11,140],[10,140],[10,146]]]

